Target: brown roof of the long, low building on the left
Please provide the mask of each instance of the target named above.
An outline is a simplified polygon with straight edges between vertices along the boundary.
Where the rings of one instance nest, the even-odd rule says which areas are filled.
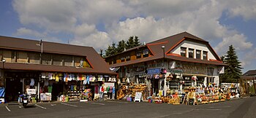
[[[7,36],[0,36],[0,49],[10,50],[26,50],[32,52],[41,52],[41,47],[37,46],[39,41],[30,39],[20,39]],[[37,71],[59,71],[59,72],[74,72],[74,73],[91,73],[91,74],[115,74],[109,70],[108,63],[100,57],[93,47],[82,47],[72,44],[60,44],[54,42],[42,42],[43,53],[56,53],[64,55],[84,56],[93,68],[75,68],[67,66],[45,66],[37,64],[20,64],[20,63],[5,63],[4,68],[18,70],[37,70]],[[2,68],[2,63],[0,63]]]

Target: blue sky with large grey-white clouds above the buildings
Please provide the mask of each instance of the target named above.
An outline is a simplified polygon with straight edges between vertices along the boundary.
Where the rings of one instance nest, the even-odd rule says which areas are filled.
[[[138,36],[151,42],[187,31],[219,56],[236,48],[243,72],[256,69],[255,0],[1,0],[0,35],[78,44],[105,50]],[[188,5],[189,4],[189,5]]]

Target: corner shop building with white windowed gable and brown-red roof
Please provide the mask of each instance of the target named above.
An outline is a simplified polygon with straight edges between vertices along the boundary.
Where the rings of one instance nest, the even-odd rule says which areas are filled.
[[[183,32],[105,58],[118,69],[121,82],[147,84],[148,95],[159,90],[219,84],[222,63],[211,45]]]

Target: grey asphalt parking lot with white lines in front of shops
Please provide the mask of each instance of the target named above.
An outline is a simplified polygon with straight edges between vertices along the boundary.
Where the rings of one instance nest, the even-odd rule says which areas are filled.
[[[1,105],[0,117],[203,117],[256,118],[256,97],[195,106],[129,101],[34,103],[28,108]]]

